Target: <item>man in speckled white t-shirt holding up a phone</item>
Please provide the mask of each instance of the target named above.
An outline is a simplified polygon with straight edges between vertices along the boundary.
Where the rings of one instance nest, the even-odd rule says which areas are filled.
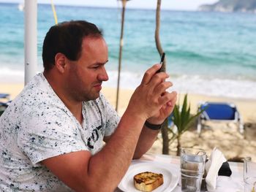
[[[43,74],[1,116],[0,190],[114,191],[173,110],[168,75],[148,69],[119,119],[100,93],[108,47],[97,26],[53,26],[42,59]]]

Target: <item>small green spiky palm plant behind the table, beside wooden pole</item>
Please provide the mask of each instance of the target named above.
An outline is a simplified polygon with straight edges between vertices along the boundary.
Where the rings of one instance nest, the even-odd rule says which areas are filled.
[[[172,120],[173,124],[177,127],[177,131],[173,131],[173,129],[170,129],[170,131],[173,134],[171,140],[177,139],[178,142],[176,155],[180,155],[181,135],[189,129],[189,123],[191,123],[192,120],[195,120],[195,118],[202,112],[203,110],[200,110],[195,115],[190,114],[190,104],[187,104],[187,94],[184,96],[182,106],[179,104],[175,105]]]

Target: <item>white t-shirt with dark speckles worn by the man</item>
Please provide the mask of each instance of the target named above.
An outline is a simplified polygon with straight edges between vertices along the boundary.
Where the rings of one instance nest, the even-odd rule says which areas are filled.
[[[71,191],[40,161],[102,148],[120,118],[105,97],[83,102],[83,126],[37,74],[0,118],[0,191]]]

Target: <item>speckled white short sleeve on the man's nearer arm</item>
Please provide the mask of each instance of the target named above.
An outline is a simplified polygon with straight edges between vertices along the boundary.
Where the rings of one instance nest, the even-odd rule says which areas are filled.
[[[32,164],[56,155],[89,150],[80,136],[78,122],[61,109],[30,114],[21,127],[18,147]]]

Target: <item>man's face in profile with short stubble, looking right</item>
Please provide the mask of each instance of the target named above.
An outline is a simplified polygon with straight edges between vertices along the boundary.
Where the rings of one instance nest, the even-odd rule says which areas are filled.
[[[85,37],[78,61],[69,61],[67,88],[76,101],[89,101],[99,97],[102,81],[108,80],[105,64],[108,46],[102,37]]]

